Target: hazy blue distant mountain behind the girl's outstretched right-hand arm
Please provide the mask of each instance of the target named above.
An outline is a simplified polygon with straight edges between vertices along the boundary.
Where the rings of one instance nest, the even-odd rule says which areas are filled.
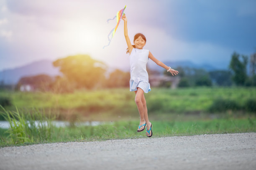
[[[207,71],[212,71],[212,70],[218,70],[217,68],[213,67],[210,64],[201,64],[201,65],[197,65],[189,60],[184,60],[184,61],[164,61],[163,62],[165,65],[170,66],[172,68],[175,67],[190,67],[190,68],[197,68],[197,69],[204,69]],[[148,67],[152,70],[158,70],[158,71],[162,71],[163,68],[159,67],[158,65],[156,65],[154,62],[148,62]]]

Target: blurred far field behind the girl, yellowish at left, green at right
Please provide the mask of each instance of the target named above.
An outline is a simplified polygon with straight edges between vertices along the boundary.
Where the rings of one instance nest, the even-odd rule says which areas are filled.
[[[74,93],[53,94],[49,92],[9,92],[0,91],[0,96],[10,97],[13,105],[10,110],[18,108],[43,108],[58,113],[59,120],[69,120],[67,114],[74,115],[74,119],[97,119],[101,114],[105,119],[109,116],[138,115],[134,102],[135,93],[128,88],[105,90],[77,90]],[[152,88],[145,94],[148,112],[154,114],[218,112],[216,100],[231,100],[237,105],[238,112],[247,112],[246,102],[256,98],[255,87],[189,87],[175,90],[167,88]],[[218,102],[217,102],[218,103]],[[227,102],[228,104],[230,102]],[[227,106],[223,111],[230,110]],[[255,112],[252,112],[255,114]]]

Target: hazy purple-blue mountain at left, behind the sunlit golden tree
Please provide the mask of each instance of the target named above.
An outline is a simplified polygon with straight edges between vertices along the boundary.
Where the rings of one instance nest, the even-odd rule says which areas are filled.
[[[59,68],[52,65],[51,60],[40,60],[30,64],[16,67],[13,69],[5,69],[0,72],[0,82],[5,85],[16,84],[21,77],[32,76],[38,74],[46,74],[50,76],[62,75]]]

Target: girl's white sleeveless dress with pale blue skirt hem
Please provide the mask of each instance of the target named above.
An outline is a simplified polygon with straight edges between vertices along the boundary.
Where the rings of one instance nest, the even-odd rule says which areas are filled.
[[[151,91],[148,82],[146,64],[148,62],[149,50],[133,48],[130,55],[131,79],[130,91],[136,91],[140,87],[144,92]]]

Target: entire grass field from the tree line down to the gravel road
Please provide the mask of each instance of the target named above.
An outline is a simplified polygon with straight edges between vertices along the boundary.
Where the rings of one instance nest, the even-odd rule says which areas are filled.
[[[0,146],[147,138],[146,131],[136,131],[139,114],[134,102],[135,94],[127,88],[79,90],[70,94],[0,91],[0,97],[10,98],[12,102],[11,106],[5,107],[5,111],[0,108],[2,119],[5,114],[5,117],[9,115],[9,122],[16,122],[10,129],[0,128]],[[153,138],[256,132],[256,112],[253,111],[256,106],[256,88],[153,88],[145,97],[153,124]],[[251,108],[249,111],[248,106]],[[215,107],[224,110],[211,112],[210,108]],[[12,114],[16,114],[16,119],[12,118]],[[112,123],[95,127],[57,128],[51,124],[51,120],[55,119]],[[29,120],[30,126],[26,120]],[[41,127],[34,125],[35,120],[42,122]],[[48,125],[43,123],[45,120],[49,122]]]

